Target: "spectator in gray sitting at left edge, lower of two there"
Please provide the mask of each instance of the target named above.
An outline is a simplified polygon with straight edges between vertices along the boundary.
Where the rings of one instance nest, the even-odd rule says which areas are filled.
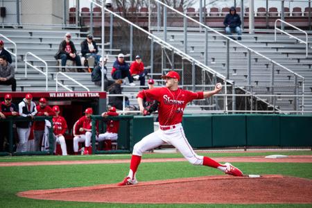
[[[0,56],[0,85],[11,85],[12,92],[16,91],[14,67],[7,62],[6,56]]]

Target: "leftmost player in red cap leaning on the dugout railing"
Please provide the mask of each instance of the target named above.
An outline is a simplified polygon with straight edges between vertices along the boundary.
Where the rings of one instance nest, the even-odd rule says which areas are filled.
[[[6,94],[4,96],[4,101],[1,103],[1,109],[0,111],[2,112],[4,118],[8,116],[18,116],[18,110],[17,107],[14,103],[12,103],[12,96],[10,94]],[[12,127],[11,127],[12,128]],[[0,125],[0,152],[3,152],[4,147],[3,147],[3,141],[4,138],[6,137],[8,141],[8,135],[9,135],[9,129],[10,125],[8,122],[1,122]]]

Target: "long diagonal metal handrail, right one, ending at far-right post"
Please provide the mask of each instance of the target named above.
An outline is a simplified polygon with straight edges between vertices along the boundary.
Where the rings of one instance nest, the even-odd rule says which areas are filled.
[[[202,26],[203,28],[207,28],[209,31],[212,31],[212,32],[214,32],[214,33],[217,33],[218,35],[221,35],[221,36],[225,37],[225,39],[227,39],[227,40],[229,40],[229,41],[231,41],[231,42],[234,42],[234,43],[236,43],[236,44],[239,44],[240,46],[242,46],[243,48],[245,48],[245,49],[251,51],[252,53],[255,53],[255,54],[257,54],[257,55],[260,55],[262,58],[264,58],[264,59],[266,59],[266,60],[272,62],[272,64],[276,64],[277,66],[279,66],[279,67],[285,69],[286,71],[289,71],[289,72],[293,73],[294,76],[297,76],[297,77],[299,77],[299,78],[302,78],[302,101],[303,101],[303,103],[304,103],[304,77],[303,77],[303,76],[300,76],[300,74],[295,73],[295,71],[292,71],[291,69],[288,69],[287,67],[284,67],[283,65],[279,64],[278,62],[275,62],[274,60],[271,60],[270,58],[266,57],[265,55],[262,55],[261,53],[259,53],[259,52],[257,52],[257,51],[254,51],[253,49],[250,49],[250,47],[245,46],[244,44],[241,44],[240,42],[237,42],[236,40],[232,40],[232,38],[227,37],[227,35],[224,35],[224,34],[218,32],[218,31],[214,30],[213,28],[210,28],[209,26],[206,26],[205,24],[202,24],[200,21],[197,21],[197,20],[195,20],[195,19],[193,19],[193,18],[191,18],[191,17],[189,17],[189,16],[187,16],[187,15],[184,15],[182,12],[179,12],[179,11],[176,10],[175,8],[172,8],[172,7],[168,6],[168,5],[166,5],[166,3],[163,3],[162,1],[159,1],[159,0],[154,0],[154,1],[156,1],[156,2],[159,3],[159,4],[162,4],[162,6],[165,6],[166,8],[169,8],[169,9],[175,11],[177,14],[182,15],[183,17],[185,17],[185,18],[187,18],[187,19],[189,19],[189,20],[195,22],[196,24],[199,24],[199,25]],[[148,9],[150,10],[150,8],[148,8]],[[148,13],[148,15],[150,15],[150,13]],[[150,19],[150,17],[149,17],[148,19]],[[303,106],[302,106],[302,112],[303,112],[303,111],[304,111],[304,104],[303,104]]]

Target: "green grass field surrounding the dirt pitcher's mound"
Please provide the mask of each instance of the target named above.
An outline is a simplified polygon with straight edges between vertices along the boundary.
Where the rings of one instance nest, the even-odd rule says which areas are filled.
[[[302,153],[306,155],[309,153]],[[247,155],[259,153],[247,153]],[[273,154],[273,153],[270,153]],[[277,154],[277,153],[274,153]],[[209,153],[210,157],[238,156],[241,153]],[[212,155],[212,156],[211,156]],[[243,153],[246,155],[246,153]],[[250,155],[250,156],[251,156]],[[267,155],[267,154],[266,154]],[[291,155],[283,152],[283,155]],[[311,153],[310,153],[311,155]],[[119,155],[130,158],[129,155]],[[144,157],[166,157],[150,154]],[[169,157],[180,157],[168,154]],[[16,158],[16,159],[15,159]],[[28,157],[29,161],[32,157]],[[65,159],[67,157],[64,157]],[[76,157],[76,159],[116,159],[115,156]],[[1,158],[2,160],[3,158]],[[8,159],[8,158],[6,158]],[[14,157],[15,161],[24,159]],[[33,158],[35,159],[35,157]],[[37,159],[47,160],[49,157]],[[58,159],[54,157],[52,160]],[[63,159],[63,158],[62,158]],[[10,159],[9,159],[10,160]],[[295,163],[233,163],[246,174],[282,174],[312,179],[312,164]],[[168,207],[169,205],[122,205],[90,202],[60,202],[51,200],[32,200],[19,198],[16,193],[32,189],[56,189],[66,187],[85,187],[96,184],[114,184],[128,173],[129,164],[83,164],[63,166],[10,166],[0,167],[0,205],[1,207]],[[204,175],[222,175],[220,171],[205,166],[192,166],[188,162],[142,163],[137,177],[139,181],[164,180],[179,177],[199,177]],[[207,187],[209,189],[209,187]],[[312,207],[312,205],[170,205],[170,207]]]

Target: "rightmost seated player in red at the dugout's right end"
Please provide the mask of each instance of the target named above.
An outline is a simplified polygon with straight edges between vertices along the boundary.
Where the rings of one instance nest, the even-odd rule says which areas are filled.
[[[103,112],[102,116],[104,121],[106,121],[106,132],[104,134],[98,135],[97,141],[104,141],[104,150],[112,150],[112,141],[116,142],[118,139],[119,121],[114,121],[112,119],[107,119],[107,116],[118,116],[116,112],[116,107],[110,107],[108,112]]]

